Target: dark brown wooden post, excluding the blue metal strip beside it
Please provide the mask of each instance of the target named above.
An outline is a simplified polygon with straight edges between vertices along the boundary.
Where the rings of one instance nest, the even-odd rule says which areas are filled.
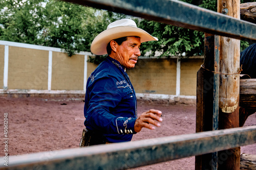
[[[202,65],[208,70],[212,70],[214,68],[214,35],[205,34],[204,36],[204,63]],[[212,131],[210,120],[213,115],[213,74],[203,67],[197,72],[196,132]],[[211,169],[211,165],[206,163],[210,161],[211,154],[196,156],[195,169]]]

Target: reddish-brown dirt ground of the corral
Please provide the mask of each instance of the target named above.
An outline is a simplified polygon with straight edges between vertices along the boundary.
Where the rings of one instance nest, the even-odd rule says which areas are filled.
[[[83,129],[83,99],[72,98],[0,98],[0,127],[4,131],[4,113],[8,113],[8,153],[22,155],[42,151],[78,148]],[[133,140],[195,133],[195,105],[166,105],[138,101],[138,113],[148,109],[162,111],[160,128],[143,129]],[[256,125],[256,114],[245,126]],[[2,131],[2,132],[3,132]],[[4,133],[2,133],[2,139]],[[4,156],[4,143],[0,155]],[[256,155],[256,143],[241,147],[241,153]],[[194,169],[195,157],[167,161],[133,169]]]

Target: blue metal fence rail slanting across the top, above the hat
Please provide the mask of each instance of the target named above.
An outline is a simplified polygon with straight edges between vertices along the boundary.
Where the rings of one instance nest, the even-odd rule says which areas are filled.
[[[62,0],[237,39],[256,40],[256,25],[177,0]],[[248,40],[247,40],[248,41]]]

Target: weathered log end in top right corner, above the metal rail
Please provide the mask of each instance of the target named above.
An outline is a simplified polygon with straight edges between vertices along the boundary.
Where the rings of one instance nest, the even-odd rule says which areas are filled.
[[[256,2],[240,4],[240,17],[243,20],[256,23]]]

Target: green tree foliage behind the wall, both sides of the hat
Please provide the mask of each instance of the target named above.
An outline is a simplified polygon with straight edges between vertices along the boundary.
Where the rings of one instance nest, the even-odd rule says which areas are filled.
[[[217,11],[217,0],[182,1]],[[139,28],[159,38],[143,43],[142,55],[203,55],[203,32],[55,0],[2,0],[0,39],[59,47],[72,56],[75,52],[90,51],[94,37],[110,22],[121,18],[134,19]],[[241,46],[247,47],[248,42],[241,41]],[[99,58],[91,61],[99,63]]]

